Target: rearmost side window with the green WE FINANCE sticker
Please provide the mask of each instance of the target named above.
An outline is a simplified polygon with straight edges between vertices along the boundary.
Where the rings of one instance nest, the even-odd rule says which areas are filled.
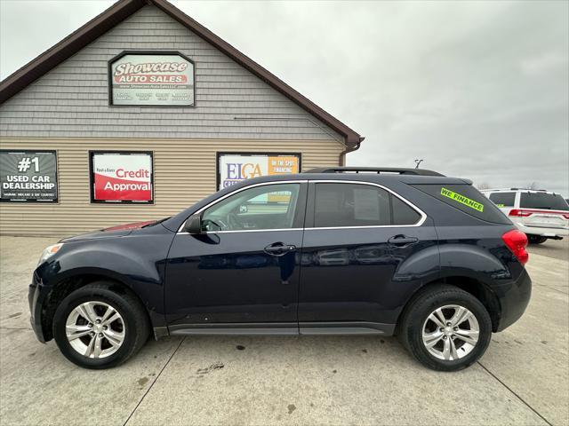
[[[510,224],[508,217],[472,185],[434,184],[413,185],[413,187],[470,216],[495,224]]]

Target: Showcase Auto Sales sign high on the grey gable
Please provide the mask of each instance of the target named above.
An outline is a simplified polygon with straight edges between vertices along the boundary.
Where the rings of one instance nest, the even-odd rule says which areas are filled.
[[[194,106],[194,63],[177,52],[125,52],[109,63],[112,105]]]

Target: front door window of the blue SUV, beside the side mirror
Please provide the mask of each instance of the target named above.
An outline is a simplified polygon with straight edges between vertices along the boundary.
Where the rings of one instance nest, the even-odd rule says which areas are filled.
[[[245,189],[205,209],[203,231],[247,231],[293,227],[300,184]]]

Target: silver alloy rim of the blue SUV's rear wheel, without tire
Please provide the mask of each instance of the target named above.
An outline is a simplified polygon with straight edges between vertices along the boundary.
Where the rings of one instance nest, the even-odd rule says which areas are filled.
[[[422,341],[435,358],[455,361],[476,347],[479,333],[478,320],[472,312],[458,304],[447,304],[427,317]]]

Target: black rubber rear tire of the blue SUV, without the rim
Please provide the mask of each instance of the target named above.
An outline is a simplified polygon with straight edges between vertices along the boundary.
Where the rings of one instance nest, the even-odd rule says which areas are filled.
[[[437,359],[423,343],[423,325],[429,315],[435,312],[437,308],[451,304],[460,305],[474,314],[479,326],[478,341],[463,358],[456,360]],[[411,352],[413,358],[425,367],[437,371],[457,371],[471,366],[484,355],[492,337],[492,320],[485,306],[475,296],[454,286],[437,284],[420,290],[405,307],[397,337]]]

